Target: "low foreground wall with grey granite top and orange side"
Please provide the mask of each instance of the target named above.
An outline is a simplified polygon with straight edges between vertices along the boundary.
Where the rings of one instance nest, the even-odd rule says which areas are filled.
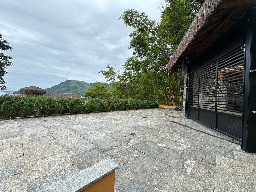
[[[118,165],[105,159],[39,192],[114,192],[117,168]]]

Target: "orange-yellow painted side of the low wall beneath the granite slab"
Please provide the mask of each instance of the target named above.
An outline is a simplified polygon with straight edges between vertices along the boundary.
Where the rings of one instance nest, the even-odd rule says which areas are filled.
[[[115,171],[85,188],[82,192],[114,192],[114,187]]]

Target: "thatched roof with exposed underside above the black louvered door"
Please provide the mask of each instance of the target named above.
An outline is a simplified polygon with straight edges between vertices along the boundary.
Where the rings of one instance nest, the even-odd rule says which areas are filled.
[[[199,10],[166,69],[191,61],[219,39],[241,18],[256,0],[206,0]]]

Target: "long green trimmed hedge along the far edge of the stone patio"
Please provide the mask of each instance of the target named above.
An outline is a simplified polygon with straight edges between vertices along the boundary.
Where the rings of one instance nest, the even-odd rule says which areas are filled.
[[[42,117],[51,114],[106,112],[157,108],[156,102],[128,99],[55,99],[47,96],[0,96],[0,115],[8,117]]]

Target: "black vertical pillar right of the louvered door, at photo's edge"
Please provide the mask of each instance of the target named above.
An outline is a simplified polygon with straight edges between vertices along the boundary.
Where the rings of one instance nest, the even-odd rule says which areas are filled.
[[[242,149],[256,153],[256,8],[247,12]]]

